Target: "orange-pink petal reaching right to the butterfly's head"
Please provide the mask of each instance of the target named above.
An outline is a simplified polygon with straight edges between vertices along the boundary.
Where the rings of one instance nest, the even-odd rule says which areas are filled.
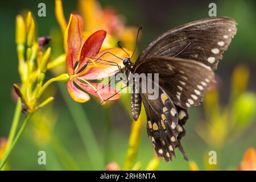
[[[128,51],[125,49],[125,51],[131,55],[131,51]],[[121,59],[118,59],[117,57],[111,55],[110,53],[106,52],[111,52],[113,55],[120,57]],[[104,56],[102,56],[104,53],[106,53]],[[100,57],[102,60],[107,60],[111,61],[113,63],[109,63],[106,61],[101,61],[97,60],[96,61],[96,66],[93,65],[93,63],[89,63],[87,65],[87,68],[82,71],[79,76],[84,78],[85,80],[97,80],[105,77],[109,77],[114,75],[115,73],[119,72],[119,69],[115,63],[117,63],[121,68],[124,67],[123,65],[123,59],[127,57],[127,54],[120,48],[109,48],[109,49],[104,49],[97,53],[95,56],[96,58]]]

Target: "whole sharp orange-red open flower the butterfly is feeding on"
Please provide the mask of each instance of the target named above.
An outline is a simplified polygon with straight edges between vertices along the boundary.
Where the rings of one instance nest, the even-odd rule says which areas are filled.
[[[88,80],[97,80],[117,73],[119,71],[117,64],[123,68],[122,59],[126,57],[126,53],[120,48],[108,48],[100,51],[106,31],[96,31],[83,41],[81,27],[80,16],[71,14],[65,31],[66,66],[70,76],[67,85],[69,94],[77,102],[90,100],[86,92],[100,98],[101,102],[109,97],[111,97],[110,101],[118,100],[120,95],[115,89],[109,86],[101,89],[103,84],[90,83]],[[82,42],[84,43],[82,44]],[[97,92],[97,90],[99,91]]]

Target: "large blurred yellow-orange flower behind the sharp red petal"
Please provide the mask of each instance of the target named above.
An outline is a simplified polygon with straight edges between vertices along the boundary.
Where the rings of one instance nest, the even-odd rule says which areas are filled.
[[[112,7],[102,9],[100,3],[95,0],[79,0],[79,10],[84,18],[85,31],[93,32],[97,29],[104,29],[110,35],[107,39],[110,43],[117,42],[115,39],[124,43],[124,46],[131,49],[137,34],[137,27],[126,26],[125,18],[117,14]],[[95,16],[97,14],[97,16]]]

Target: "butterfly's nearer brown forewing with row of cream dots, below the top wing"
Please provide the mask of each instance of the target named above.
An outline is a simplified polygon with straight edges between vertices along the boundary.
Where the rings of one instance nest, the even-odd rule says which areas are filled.
[[[146,59],[137,65],[134,72],[158,73],[159,86],[175,105],[184,109],[200,105],[204,93],[214,81],[213,71],[203,63],[175,57]]]

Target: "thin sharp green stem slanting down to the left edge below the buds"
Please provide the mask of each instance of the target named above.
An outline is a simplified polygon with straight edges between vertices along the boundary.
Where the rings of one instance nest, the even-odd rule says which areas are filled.
[[[15,147],[16,144],[18,143],[20,137],[22,136],[22,134],[23,134],[23,132],[24,132],[24,129],[25,129],[26,126],[27,126],[28,121],[30,121],[30,118],[31,118],[31,114],[30,114],[30,115],[27,115],[27,117],[24,119],[24,121],[23,121],[23,123],[22,123],[22,126],[21,126],[20,129],[19,129],[18,134],[17,134],[16,137],[14,138],[13,143],[11,144],[9,150],[7,150],[5,156],[4,156],[3,159],[1,160],[1,163],[0,163],[0,170],[2,170],[2,168],[5,166],[7,160],[9,159],[9,156],[11,155],[11,152],[13,152],[14,147]]]

